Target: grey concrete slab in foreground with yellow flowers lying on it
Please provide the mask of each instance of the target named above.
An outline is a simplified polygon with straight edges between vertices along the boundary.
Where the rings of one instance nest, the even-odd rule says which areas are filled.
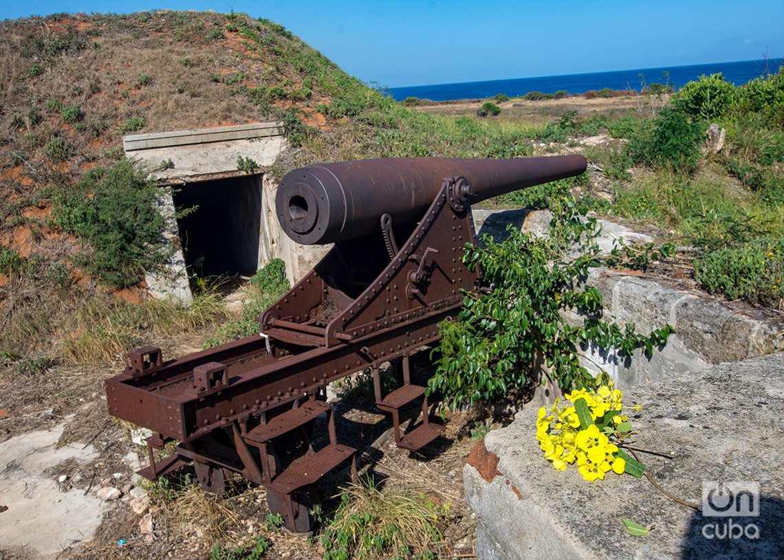
[[[784,354],[627,388],[624,402],[644,406],[630,417],[636,445],[674,453],[641,454],[666,490],[701,504],[703,482],[757,482],[759,517],[733,518],[741,529],[731,529],[646,479],[611,472],[586,482],[575,468],[556,471],[539,450],[532,407],[490,432],[463,470],[478,558],[784,558]],[[621,518],[655,529],[632,537]],[[758,539],[716,537],[727,527],[753,535],[750,524]]]

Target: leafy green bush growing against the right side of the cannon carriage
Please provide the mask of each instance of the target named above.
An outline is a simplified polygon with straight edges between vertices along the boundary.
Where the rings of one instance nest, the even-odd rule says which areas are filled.
[[[502,243],[485,235],[480,244],[466,244],[463,262],[480,267],[486,288],[466,292],[457,320],[439,327],[429,391],[441,392],[448,406],[521,400],[545,371],[564,391],[597,388],[605,380],[580,364],[579,348],[594,345],[622,357],[642,348],[650,355],[674,332],[665,325],[641,334],[633,324],[604,320],[601,292],[581,282],[601,263],[601,226],[572,197],[551,201],[550,209],[546,237],[510,228]],[[568,320],[568,310],[579,320]]]

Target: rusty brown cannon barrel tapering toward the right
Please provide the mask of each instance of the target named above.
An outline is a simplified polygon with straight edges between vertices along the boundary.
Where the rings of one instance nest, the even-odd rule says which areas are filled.
[[[289,172],[275,197],[278,221],[300,244],[328,244],[379,229],[384,214],[397,225],[416,223],[447,177],[465,177],[470,202],[579,175],[583,156],[506,160],[405,157],[312,164]]]

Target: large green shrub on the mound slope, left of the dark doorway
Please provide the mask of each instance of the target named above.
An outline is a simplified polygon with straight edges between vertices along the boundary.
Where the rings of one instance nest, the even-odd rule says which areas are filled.
[[[56,224],[92,247],[80,264],[104,284],[136,285],[169,258],[158,188],[129,160],[91,169],[77,185],[56,190],[52,202]]]

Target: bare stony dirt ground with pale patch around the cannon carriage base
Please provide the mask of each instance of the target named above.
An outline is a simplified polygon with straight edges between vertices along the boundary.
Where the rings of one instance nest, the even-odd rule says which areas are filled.
[[[199,349],[209,334],[169,341],[165,357]],[[198,486],[176,493],[174,486],[149,486],[135,475],[147,463],[146,450],[132,442],[131,426],[109,417],[103,391],[103,381],[124,365],[55,367],[34,377],[13,367],[0,370],[0,506],[8,508],[0,508],[0,559],[209,558],[216,544],[238,547],[258,536],[271,541],[265,558],[323,556],[318,533],[309,539],[265,527],[263,488],[238,480],[217,500]],[[428,367],[416,360],[415,377],[426,376]],[[426,494],[434,505],[448,504],[439,522],[439,557],[472,557],[474,518],[463,500],[462,472],[487,426],[475,415],[454,414],[441,438],[411,453],[394,445],[391,422],[375,409],[366,375],[333,389],[338,439],[364,452],[361,473],[404,493]],[[321,485],[325,512],[336,506],[345,480]],[[103,500],[111,489],[119,497]],[[49,530],[38,530],[43,527]]]

